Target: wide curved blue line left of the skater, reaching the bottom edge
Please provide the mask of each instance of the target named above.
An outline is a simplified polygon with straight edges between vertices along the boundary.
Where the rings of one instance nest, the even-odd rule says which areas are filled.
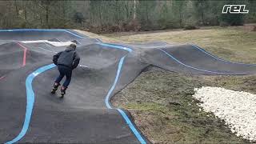
[[[22,130],[16,138],[14,138],[13,140],[11,140],[9,142],[6,142],[6,144],[12,144],[14,142],[18,142],[26,134],[26,131],[28,130],[28,128],[30,126],[30,118],[31,118],[33,106],[34,106],[34,91],[32,88],[32,82],[33,82],[34,78],[36,76],[38,76],[38,74],[42,74],[46,70],[50,70],[51,68],[54,68],[54,67],[55,67],[54,64],[43,66],[43,67],[39,68],[38,70],[35,70],[32,74],[30,74],[26,78],[26,115],[25,115],[25,120],[24,120],[23,126],[22,126]]]

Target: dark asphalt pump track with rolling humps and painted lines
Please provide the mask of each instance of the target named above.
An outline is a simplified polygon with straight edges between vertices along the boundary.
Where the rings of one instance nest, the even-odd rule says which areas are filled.
[[[42,41],[43,40],[43,41]],[[64,99],[50,94],[52,56],[76,40],[80,65]],[[34,42],[32,42],[34,41]],[[73,30],[0,30],[0,143],[147,143],[110,98],[146,66],[186,74],[256,74],[192,45],[104,43]]]

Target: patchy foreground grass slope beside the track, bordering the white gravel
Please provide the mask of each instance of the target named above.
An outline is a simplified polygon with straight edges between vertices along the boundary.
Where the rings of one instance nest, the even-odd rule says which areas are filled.
[[[190,76],[155,67],[143,72],[112,98],[129,110],[142,133],[154,143],[247,143],[224,122],[207,114],[192,98],[194,87],[223,86],[256,94],[256,76]]]

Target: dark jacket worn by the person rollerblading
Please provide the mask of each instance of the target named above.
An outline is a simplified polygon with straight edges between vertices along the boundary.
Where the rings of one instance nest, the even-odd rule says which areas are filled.
[[[73,70],[78,66],[80,57],[73,47],[67,46],[66,50],[54,55],[53,61],[57,66],[67,66]]]

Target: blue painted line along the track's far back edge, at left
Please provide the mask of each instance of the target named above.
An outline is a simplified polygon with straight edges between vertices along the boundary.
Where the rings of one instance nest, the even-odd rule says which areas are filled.
[[[45,32],[66,32],[69,34],[72,34],[78,38],[86,38],[83,36],[80,36],[78,34],[74,34],[72,32],[70,32],[69,30],[65,30],[65,29],[11,29],[11,30],[0,30],[0,32],[15,32],[15,31],[45,31]]]

